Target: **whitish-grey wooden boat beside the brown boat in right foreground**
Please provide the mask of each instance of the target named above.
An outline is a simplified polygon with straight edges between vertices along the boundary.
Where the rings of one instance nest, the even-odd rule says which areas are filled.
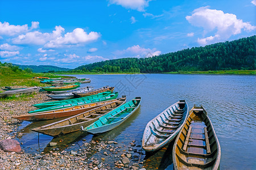
[[[188,104],[180,100],[158,114],[148,124],[143,133],[142,148],[156,151],[170,143],[179,133],[188,117]]]

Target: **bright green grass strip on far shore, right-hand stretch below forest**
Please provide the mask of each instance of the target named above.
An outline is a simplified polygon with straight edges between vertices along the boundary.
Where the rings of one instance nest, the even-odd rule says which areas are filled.
[[[218,70],[218,71],[178,71],[165,74],[232,74],[232,75],[256,75],[256,70]]]

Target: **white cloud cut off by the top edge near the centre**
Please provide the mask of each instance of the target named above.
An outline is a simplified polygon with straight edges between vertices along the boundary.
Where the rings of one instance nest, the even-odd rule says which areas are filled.
[[[110,0],[112,4],[121,5],[122,7],[137,10],[137,11],[145,11],[144,8],[148,6],[148,2],[146,0]]]

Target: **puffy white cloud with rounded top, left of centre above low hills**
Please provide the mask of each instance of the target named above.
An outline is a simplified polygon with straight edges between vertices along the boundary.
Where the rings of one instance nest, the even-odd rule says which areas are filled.
[[[68,32],[64,37],[60,36],[44,45],[45,48],[61,48],[65,45],[77,45],[80,43],[91,42],[100,37],[98,32],[90,32],[89,34],[82,28],[76,28],[73,32]]]

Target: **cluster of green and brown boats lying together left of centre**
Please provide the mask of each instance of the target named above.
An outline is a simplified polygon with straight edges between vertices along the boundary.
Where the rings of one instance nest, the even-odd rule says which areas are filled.
[[[108,90],[101,92],[106,89]],[[113,90],[114,87],[104,86],[88,91],[90,95],[85,97],[34,104],[33,106],[38,109],[28,114],[13,116],[13,118],[26,121],[64,118],[52,124],[31,129],[53,137],[81,129],[88,132],[90,130],[92,133],[91,131],[96,127],[97,133],[103,133],[126,121],[141,103],[141,97],[135,97],[127,103],[126,96],[117,99],[118,92]],[[89,125],[93,126],[87,129]]]

